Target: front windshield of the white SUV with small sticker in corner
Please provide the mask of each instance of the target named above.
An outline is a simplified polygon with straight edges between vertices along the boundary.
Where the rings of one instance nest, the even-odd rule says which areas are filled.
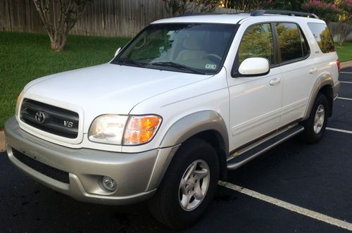
[[[221,68],[235,25],[149,25],[113,63],[187,73],[215,74]]]

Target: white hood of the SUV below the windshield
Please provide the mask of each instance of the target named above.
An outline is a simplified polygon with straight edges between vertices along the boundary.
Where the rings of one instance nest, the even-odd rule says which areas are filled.
[[[207,77],[107,63],[34,80],[25,96],[82,108],[84,120],[92,122],[102,114],[128,114],[145,99]]]

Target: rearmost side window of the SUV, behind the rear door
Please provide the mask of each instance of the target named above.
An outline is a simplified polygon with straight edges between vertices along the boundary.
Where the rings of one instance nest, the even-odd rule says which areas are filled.
[[[335,51],[334,40],[329,28],[324,23],[308,23],[310,31],[312,31],[315,40],[318,42],[320,50],[323,53]]]

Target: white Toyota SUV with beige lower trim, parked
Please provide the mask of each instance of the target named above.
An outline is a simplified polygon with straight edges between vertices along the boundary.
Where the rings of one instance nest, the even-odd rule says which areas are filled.
[[[39,78],[6,122],[10,160],[93,203],[202,215],[227,170],[299,134],[318,141],[339,89],[324,21],[255,11],[158,20],[110,63]]]

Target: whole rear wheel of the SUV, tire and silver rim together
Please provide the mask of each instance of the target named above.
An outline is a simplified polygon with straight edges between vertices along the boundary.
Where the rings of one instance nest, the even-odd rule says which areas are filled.
[[[301,122],[301,125],[304,127],[304,130],[300,135],[302,141],[313,144],[322,138],[327,125],[328,112],[329,105],[327,103],[327,97],[324,94],[318,94],[309,118]]]

